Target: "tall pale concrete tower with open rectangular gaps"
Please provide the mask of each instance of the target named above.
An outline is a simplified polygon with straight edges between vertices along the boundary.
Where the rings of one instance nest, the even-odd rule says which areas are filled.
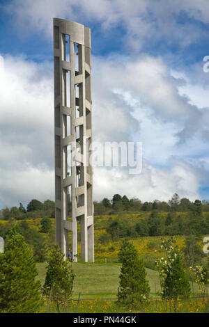
[[[91,30],[54,18],[54,142],[56,243],[77,262],[94,261],[91,157]],[[69,212],[70,207],[71,212]],[[71,217],[71,218],[69,218]],[[72,232],[72,246],[68,244]]]

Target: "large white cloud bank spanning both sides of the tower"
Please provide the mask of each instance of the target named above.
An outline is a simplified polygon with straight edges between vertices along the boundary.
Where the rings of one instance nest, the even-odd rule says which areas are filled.
[[[199,110],[180,97],[178,79],[162,59],[141,56],[121,62],[92,58],[93,140],[143,141],[144,166],[137,176],[125,168],[95,168],[95,199],[121,193],[167,200],[175,192],[197,198],[208,166],[186,160],[205,149],[201,132],[193,143],[179,146],[176,133],[185,127],[187,115],[196,119]],[[0,66],[0,205],[53,199],[52,64],[6,56]]]

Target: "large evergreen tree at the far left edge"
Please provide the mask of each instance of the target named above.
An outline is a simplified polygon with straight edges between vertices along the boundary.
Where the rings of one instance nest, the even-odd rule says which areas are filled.
[[[40,282],[32,253],[24,237],[13,229],[0,255],[0,310],[6,313],[38,312],[42,305]]]

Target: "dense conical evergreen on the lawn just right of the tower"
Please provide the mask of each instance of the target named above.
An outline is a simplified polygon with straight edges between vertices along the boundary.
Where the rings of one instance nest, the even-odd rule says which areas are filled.
[[[150,287],[137,248],[132,243],[123,241],[119,260],[122,262],[119,276],[120,301],[132,305],[147,301]]]

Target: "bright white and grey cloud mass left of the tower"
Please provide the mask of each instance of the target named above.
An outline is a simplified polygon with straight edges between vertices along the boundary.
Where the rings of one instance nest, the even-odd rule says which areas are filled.
[[[0,206],[45,200],[54,190],[52,65],[6,56],[0,70]]]

